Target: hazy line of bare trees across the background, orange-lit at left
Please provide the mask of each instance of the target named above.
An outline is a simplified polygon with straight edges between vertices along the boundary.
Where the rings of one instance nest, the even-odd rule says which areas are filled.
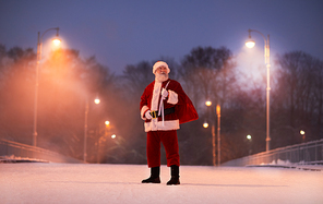
[[[265,151],[265,77],[251,86],[239,80],[237,58],[225,47],[193,48],[180,62],[168,57],[141,61],[120,75],[95,57],[82,59],[77,50],[51,51],[40,62],[37,146],[83,159],[88,101],[87,161],[146,164],[139,101],[157,60],[167,61],[170,77],[182,84],[200,116],[178,131],[182,165],[212,165],[211,125],[202,124],[216,124],[216,104],[222,107],[222,161]],[[323,139],[323,62],[292,51],[276,56],[273,65],[271,148]],[[35,76],[33,49],[0,45],[0,137],[33,144]]]

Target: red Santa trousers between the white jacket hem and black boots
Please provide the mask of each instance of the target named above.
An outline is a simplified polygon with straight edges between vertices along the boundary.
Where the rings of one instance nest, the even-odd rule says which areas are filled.
[[[160,166],[160,143],[166,152],[167,166],[179,166],[179,148],[177,131],[149,131],[147,132],[147,160],[148,167]]]

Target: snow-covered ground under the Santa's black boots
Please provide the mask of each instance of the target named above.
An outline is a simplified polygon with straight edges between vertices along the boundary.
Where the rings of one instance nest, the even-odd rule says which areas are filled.
[[[0,164],[0,203],[323,203],[323,171],[272,167],[180,168],[180,185],[142,184],[143,165]]]

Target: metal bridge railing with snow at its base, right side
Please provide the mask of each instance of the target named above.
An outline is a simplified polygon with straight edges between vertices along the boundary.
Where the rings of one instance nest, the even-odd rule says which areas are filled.
[[[323,140],[280,147],[229,160],[222,166],[323,165]]]

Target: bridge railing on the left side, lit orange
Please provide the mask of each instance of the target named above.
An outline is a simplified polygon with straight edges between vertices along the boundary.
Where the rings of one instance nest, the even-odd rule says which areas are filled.
[[[47,163],[83,163],[45,148],[0,139],[0,158],[10,160],[47,161]]]

